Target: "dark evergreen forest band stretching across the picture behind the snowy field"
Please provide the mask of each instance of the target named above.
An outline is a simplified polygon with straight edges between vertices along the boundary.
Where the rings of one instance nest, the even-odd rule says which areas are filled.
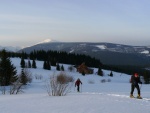
[[[150,71],[146,70],[144,67],[141,66],[131,66],[131,65],[105,65],[102,64],[100,60],[96,58],[92,58],[88,55],[84,54],[75,54],[75,53],[67,53],[61,51],[44,51],[44,50],[37,50],[32,51],[29,54],[25,52],[15,53],[15,52],[8,52],[9,57],[20,57],[22,59],[31,59],[33,62],[35,60],[44,61],[43,68],[50,70],[50,66],[56,66],[59,70],[59,63],[64,64],[71,64],[74,66],[80,65],[81,63],[85,62],[88,67],[95,67],[100,70],[98,73],[102,75],[101,69],[111,70],[120,73],[126,74],[134,74],[135,72],[139,73],[141,76],[144,77],[145,83],[150,83]],[[29,64],[29,63],[28,63]],[[32,63],[32,66],[35,63]],[[31,64],[30,64],[31,65]],[[31,66],[31,67],[32,67]],[[36,66],[36,64],[34,65]],[[61,67],[63,70],[63,66]]]

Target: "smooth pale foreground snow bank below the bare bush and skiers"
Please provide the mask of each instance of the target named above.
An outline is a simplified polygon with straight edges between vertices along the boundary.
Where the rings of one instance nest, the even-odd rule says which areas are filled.
[[[150,103],[143,99],[96,92],[70,93],[63,97],[49,97],[46,93],[5,95],[0,103],[1,113],[142,113],[143,109],[149,113],[146,111],[149,107]]]

